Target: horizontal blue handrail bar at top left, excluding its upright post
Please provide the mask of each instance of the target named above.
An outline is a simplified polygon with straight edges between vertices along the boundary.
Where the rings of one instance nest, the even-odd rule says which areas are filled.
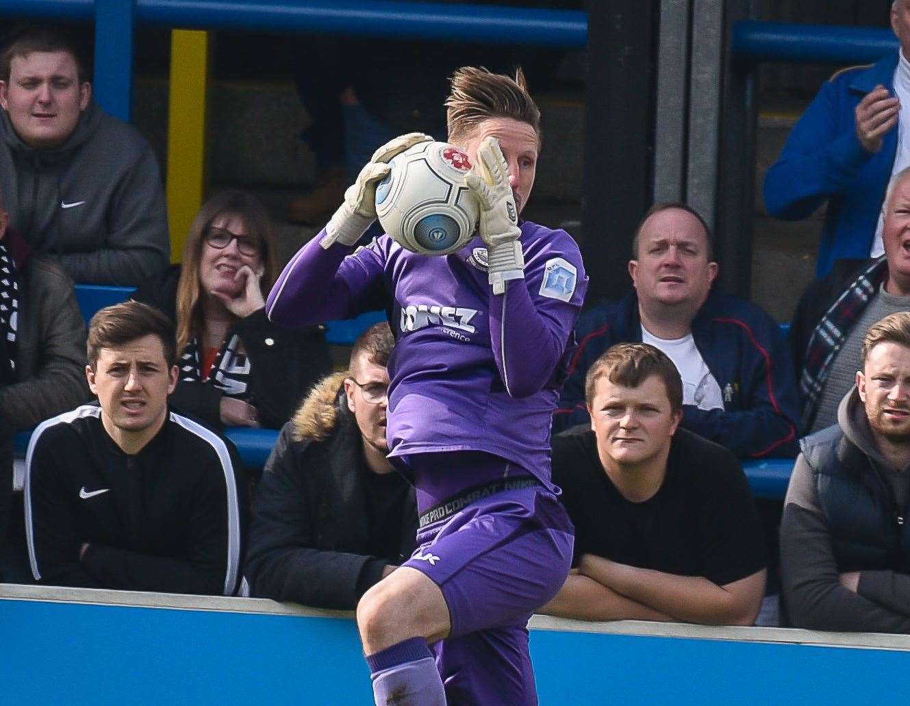
[[[94,0],[4,0],[0,14],[89,21],[94,10]],[[574,10],[384,0],[136,0],[136,22],[508,45],[584,46],[588,38],[587,15]]]

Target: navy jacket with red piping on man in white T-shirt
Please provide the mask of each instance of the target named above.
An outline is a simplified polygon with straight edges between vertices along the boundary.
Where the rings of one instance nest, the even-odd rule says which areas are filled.
[[[724,409],[685,405],[682,426],[740,458],[794,457],[800,407],[793,363],[781,329],[751,302],[712,290],[694,318],[695,347],[723,392]],[[634,290],[591,308],[576,326],[579,347],[553,414],[553,430],[590,423],[584,400],[588,368],[615,343],[641,343]]]

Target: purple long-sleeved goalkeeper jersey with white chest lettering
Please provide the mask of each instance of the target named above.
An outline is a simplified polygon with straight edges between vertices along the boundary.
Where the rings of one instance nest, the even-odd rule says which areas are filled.
[[[571,236],[523,222],[525,279],[496,296],[480,237],[437,257],[389,236],[352,254],[340,244],[326,250],[323,235],[285,267],[268,295],[268,317],[300,326],[387,308],[396,338],[389,455],[484,451],[551,488],[552,411],[588,286]]]

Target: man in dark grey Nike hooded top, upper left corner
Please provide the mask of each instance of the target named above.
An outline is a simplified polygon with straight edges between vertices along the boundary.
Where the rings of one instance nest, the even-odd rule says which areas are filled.
[[[76,282],[136,285],[167,267],[161,175],[146,140],[91,96],[65,35],[13,35],[0,55],[0,187],[28,244]]]

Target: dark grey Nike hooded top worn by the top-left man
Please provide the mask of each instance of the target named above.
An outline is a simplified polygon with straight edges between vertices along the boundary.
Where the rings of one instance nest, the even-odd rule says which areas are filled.
[[[53,149],[25,145],[0,111],[0,189],[12,225],[76,282],[135,286],[167,267],[155,155],[134,127],[94,102]]]

